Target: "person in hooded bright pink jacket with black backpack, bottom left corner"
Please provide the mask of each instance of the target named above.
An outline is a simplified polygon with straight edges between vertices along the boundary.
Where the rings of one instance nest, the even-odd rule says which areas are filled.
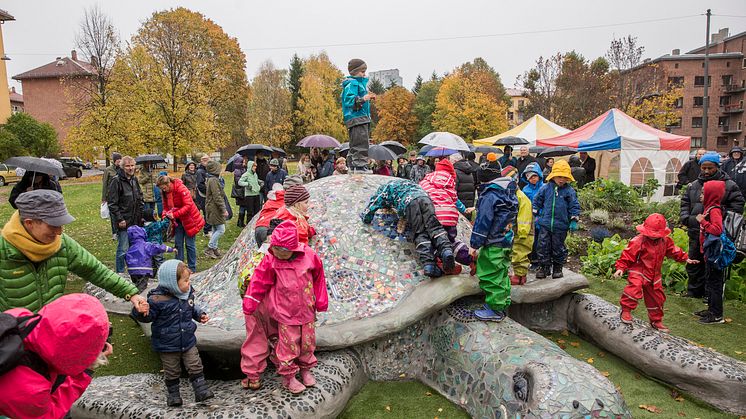
[[[61,418],[106,364],[109,317],[87,294],[0,313],[0,416]],[[103,351],[102,351],[103,348]]]

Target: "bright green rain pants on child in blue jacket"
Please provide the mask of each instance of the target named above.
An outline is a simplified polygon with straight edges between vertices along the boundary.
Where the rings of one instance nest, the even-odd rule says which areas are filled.
[[[530,249],[530,247],[529,247]],[[479,250],[477,277],[485,293],[484,301],[495,310],[505,310],[510,305],[510,249],[486,246]]]

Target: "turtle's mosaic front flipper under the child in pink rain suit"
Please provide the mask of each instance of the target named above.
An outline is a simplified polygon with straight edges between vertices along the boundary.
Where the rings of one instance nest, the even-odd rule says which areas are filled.
[[[320,353],[313,372],[317,385],[293,395],[284,390],[274,369],[262,376],[258,391],[239,381],[210,381],[215,398],[195,403],[188,379],[181,380],[184,406],[166,407],[163,377],[133,374],[95,378],[72,414],[75,418],[333,418],[367,380],[357,354],[350,350]]]

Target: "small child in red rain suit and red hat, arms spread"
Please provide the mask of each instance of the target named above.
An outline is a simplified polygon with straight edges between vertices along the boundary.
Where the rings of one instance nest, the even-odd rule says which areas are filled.
[[[668,235],[671,230],[666,227],[666,218],[661,214],[650,214],[645,222],[637,226],[640,234],[629,241],[616,262],[614,276],[621,277],[629,272],[627,286],[622,291],[619,304],[622,306],[622,322],[632,323],[632,310],[637,301],[644,297],[648,309],[650,325],[661,332],[668,333],[663,325],[663,303],[666,294],[661,284],[661,266],[663,259],[670,257],[677,262],[698,263],[691,260],[686,252],[673,243]]]

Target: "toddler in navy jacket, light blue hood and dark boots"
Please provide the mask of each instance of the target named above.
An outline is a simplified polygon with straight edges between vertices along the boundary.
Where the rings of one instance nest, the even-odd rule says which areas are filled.
[[[179,377],[181,363],[189,372],[189,381],[194,389],[194,400],[203,402],[213,397],[207,386],[202,369],[202,360],[197,351],[197,338],[194,332],[197,325],[207,323],[209,317],[194,302],[190,276],[192,272],[184,262],[170,259],[158,269],[158,287],[148,293],[148,314],[140,314],[134,309],[132,316],[143,323],[153,323],[150,343],[158,352],[163,363],[166,378],[168,406],[181,406]]]

